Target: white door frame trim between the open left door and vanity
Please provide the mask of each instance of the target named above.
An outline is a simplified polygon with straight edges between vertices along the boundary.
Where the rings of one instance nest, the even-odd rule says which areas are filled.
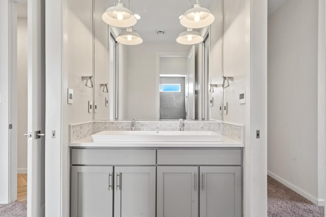
[[[69,216],[69,128],[68,123],[63,126],[63,110],[67,110],[67,103],[63,102],[67,102],[68,88],[68,78],[63,75],[63,44],[68,41],[64,40],[63,20],[67,13],[67,1],[46,1],[45,216]],[[56,131],[56,138],[51,137],[52,130]]]

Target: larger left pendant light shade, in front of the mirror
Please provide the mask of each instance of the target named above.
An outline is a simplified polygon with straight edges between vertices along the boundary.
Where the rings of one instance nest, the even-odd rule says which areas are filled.
[[[116,3],[116,6],[106,9],[102,15],[102,20],[108,25],[120,28],[130,27],[137,23],[132,12],[123,7],[120,1]]]

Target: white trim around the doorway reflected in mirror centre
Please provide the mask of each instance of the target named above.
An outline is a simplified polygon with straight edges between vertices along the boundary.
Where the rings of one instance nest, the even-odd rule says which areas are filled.
[[[188,52],[166,51],[156,52],[155,58],[155,119],[159,119],[159,61],[160,57],[187,57]]]

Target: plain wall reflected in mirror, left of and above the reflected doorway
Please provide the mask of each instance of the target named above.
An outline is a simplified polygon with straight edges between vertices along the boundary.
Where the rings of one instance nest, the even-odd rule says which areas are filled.
[[[175,43],[142,43],[128,48],[127,119],[156,119],[156,52],[189,51]]]

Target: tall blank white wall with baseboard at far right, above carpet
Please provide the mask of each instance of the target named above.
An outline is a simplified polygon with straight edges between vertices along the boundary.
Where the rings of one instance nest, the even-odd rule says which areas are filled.
[[[318,1],[287,0],[268,17],[268,172],[314,203],[317,54]]]

